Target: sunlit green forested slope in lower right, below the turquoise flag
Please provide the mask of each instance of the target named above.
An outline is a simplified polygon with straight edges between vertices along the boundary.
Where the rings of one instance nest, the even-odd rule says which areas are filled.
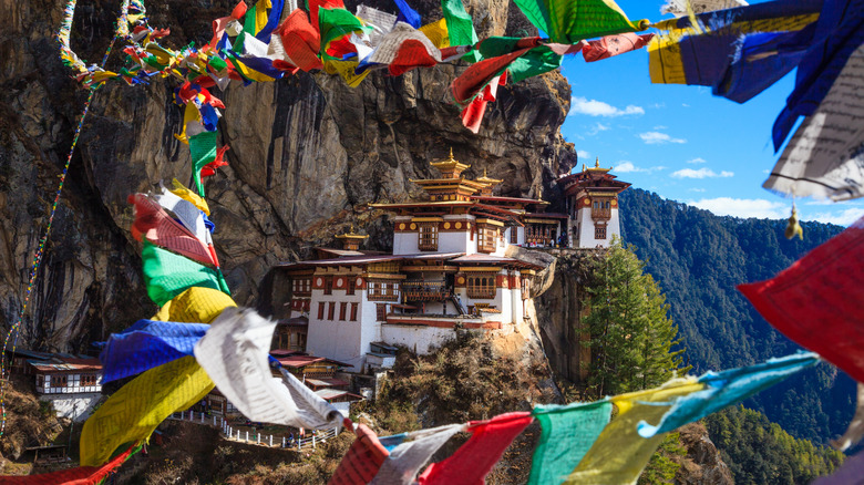
[[[796,440],[743,406],[708,416],[706,427],[737,484],[806,484],[843,462],[841,452]]]

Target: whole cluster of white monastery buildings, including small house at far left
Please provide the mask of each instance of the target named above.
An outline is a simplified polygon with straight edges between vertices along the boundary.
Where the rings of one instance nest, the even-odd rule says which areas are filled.
[[[341,249],[318,248],[320,259],[274,268],[279,326],[271,355],[346,411],[366,394],[350,389],[374,388],[368,375],[392,367],[399,345],[423,354],[457,329],[508,332],[521,323],[543,267],[513,257],[512,248],[606,247],[620,234],[618,194],[629,184],[599,162],[558,178],[564,213],[547,213],[542,199],[496,196],[502,180],[465,177],[470,165],[452,151],[431,165],[439,177],[411,180],[424,190],[420,199],[370,205],[392,215],[392,254],[361,250],[367,236],[352,229],[336,236]],[[24,350],[8,357],[60,415],[84,419],[101,396],[97,359]],[[236,413],[218,390],[202,406]]]

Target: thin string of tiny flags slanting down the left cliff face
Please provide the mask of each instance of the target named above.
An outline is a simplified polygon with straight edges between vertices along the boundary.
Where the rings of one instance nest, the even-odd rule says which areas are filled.
[[[107,50],[105,50],[105,55],[102,56],[101,68],[105,66],[109,55],[111,55],[111,49],[114,47],[114,42],[123,34],[123,31],[126,28],[125,6],[126,4],[124,3],[124,9],[121,12],[120,19],[117,20],[117,28],[114,31],[114,38],[111,39],[111,43],[109,44]],[[9,381],[9,376],[7,375],[9,370],[7,369],[6,364],[6,350],[9,348],[9,340],[11,339],[12,334],[14,334],[14,340],[12,340],[11,353],[14,353],[16,347],[18,345],[18,336],[20,334],[18,329],[21,327],[21,322],[24,319],[27,305],[30,302],[30,296],[33,292],[33,285],[35,283],[37,275],[39,274],[39,267],[41,266],[42,257],[44,256],[45,242],[48,241],[48,236],[51,233],[51,225],[54,221],[54,214],[56,213],[56,206],[60,203],[60,195],[63,192],[63,184],[66,180],[66,174],[69,174],[69,165],[72,163],[72,155],[75,153],[75,146],[78,145],[78,140],[81,135],[81,128],[84,126],[84,120],[88,117],[88,113],[90,112],[90,104],[93,101],[93,95],[102,84],[103,83],[94,84],[90,87],[90,94],[88,95],[88,100],[84,102],[84,111],[81,113],[81,118],[79,120],[78,126],[75,127],[75,134],[72,138],[72,146],[69,148],[66,163],[63,165],[63,173],[60,175],[60,184],[58,184],[56,192],[54,193],[54,203],[51,206],[51,214],[48,217],[48,226],[45,226],[45,231],[39,239],[39,247],[35,250],[35,255],[33,255],[33,262],[30,267],[30,278],[27,283],[27,292],[24,293],[24,302],[21,306],[21,311],[18,312],[18,319],[9,329],[6,334],[6,339],[3,340],[3,352],[2,357],[0,358],[0,412],[2,413],[0,416],[0,437],[2,437],[6,433],[6,388]]]

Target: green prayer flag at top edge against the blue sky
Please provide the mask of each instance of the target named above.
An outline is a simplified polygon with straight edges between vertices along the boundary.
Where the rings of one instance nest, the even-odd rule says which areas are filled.
[[[645,30],[649,22],[630,22],[613,0],[514,0],[525,17],[552,42],[575,44],[583,39]]]

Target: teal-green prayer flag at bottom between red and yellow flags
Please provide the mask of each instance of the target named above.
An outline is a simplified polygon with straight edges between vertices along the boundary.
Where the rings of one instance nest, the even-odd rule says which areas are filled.
[[[559,485],[609,423],[611,402],[536,405],[532,414],[541,424],[541,438],[528,485]]]

